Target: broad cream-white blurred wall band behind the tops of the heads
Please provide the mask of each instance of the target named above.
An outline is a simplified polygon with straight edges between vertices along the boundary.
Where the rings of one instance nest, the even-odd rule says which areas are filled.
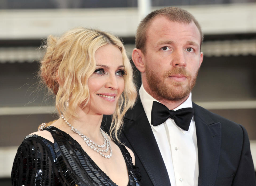
[[[152,10],[161,7],[153,7]],[[256,3],[183,6],[198,19],[204,34],[256,32]],[[99,28],[133,37],[137,8],[0,10],[0,39],[41,39],[75,26]]]

